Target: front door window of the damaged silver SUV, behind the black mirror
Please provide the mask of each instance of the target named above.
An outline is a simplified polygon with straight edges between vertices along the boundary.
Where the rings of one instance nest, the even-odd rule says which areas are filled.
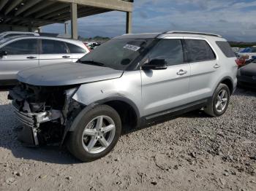
[[[181,39],[161,39],[151,50],[148,58],[165,59],[168,66],[184,63]]]

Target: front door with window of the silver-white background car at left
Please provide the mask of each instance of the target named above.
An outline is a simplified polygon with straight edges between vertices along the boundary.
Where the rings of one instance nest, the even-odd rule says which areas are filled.
[[[1,47],[7,55],[0,57],[0,80],[16,79],[18,71],[38,66],[37,39],[20,39]]]

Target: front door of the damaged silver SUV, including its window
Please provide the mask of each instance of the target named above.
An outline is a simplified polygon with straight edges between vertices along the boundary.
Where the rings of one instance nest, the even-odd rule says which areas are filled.
[[[190,66],[184,63],[182,36],[169,38],[159,40],[147,56],[148,61],[166,59],[167,69],[141,71],[143,112],[146,116],[188,103]]]

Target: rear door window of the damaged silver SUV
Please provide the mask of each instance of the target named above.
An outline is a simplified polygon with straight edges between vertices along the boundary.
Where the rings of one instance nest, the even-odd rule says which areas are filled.
[[[188,62],[212,61],[216,59],[214,51],[205,40],[185,39]]]

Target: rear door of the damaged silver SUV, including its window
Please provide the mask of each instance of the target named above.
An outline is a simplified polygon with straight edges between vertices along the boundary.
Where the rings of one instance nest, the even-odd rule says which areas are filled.
[[[220,69],[213,48],[206,39],[200,37],[184,37],[184,48],[187,63],[191,67],[190,102],[211,97],[215,75]]]

